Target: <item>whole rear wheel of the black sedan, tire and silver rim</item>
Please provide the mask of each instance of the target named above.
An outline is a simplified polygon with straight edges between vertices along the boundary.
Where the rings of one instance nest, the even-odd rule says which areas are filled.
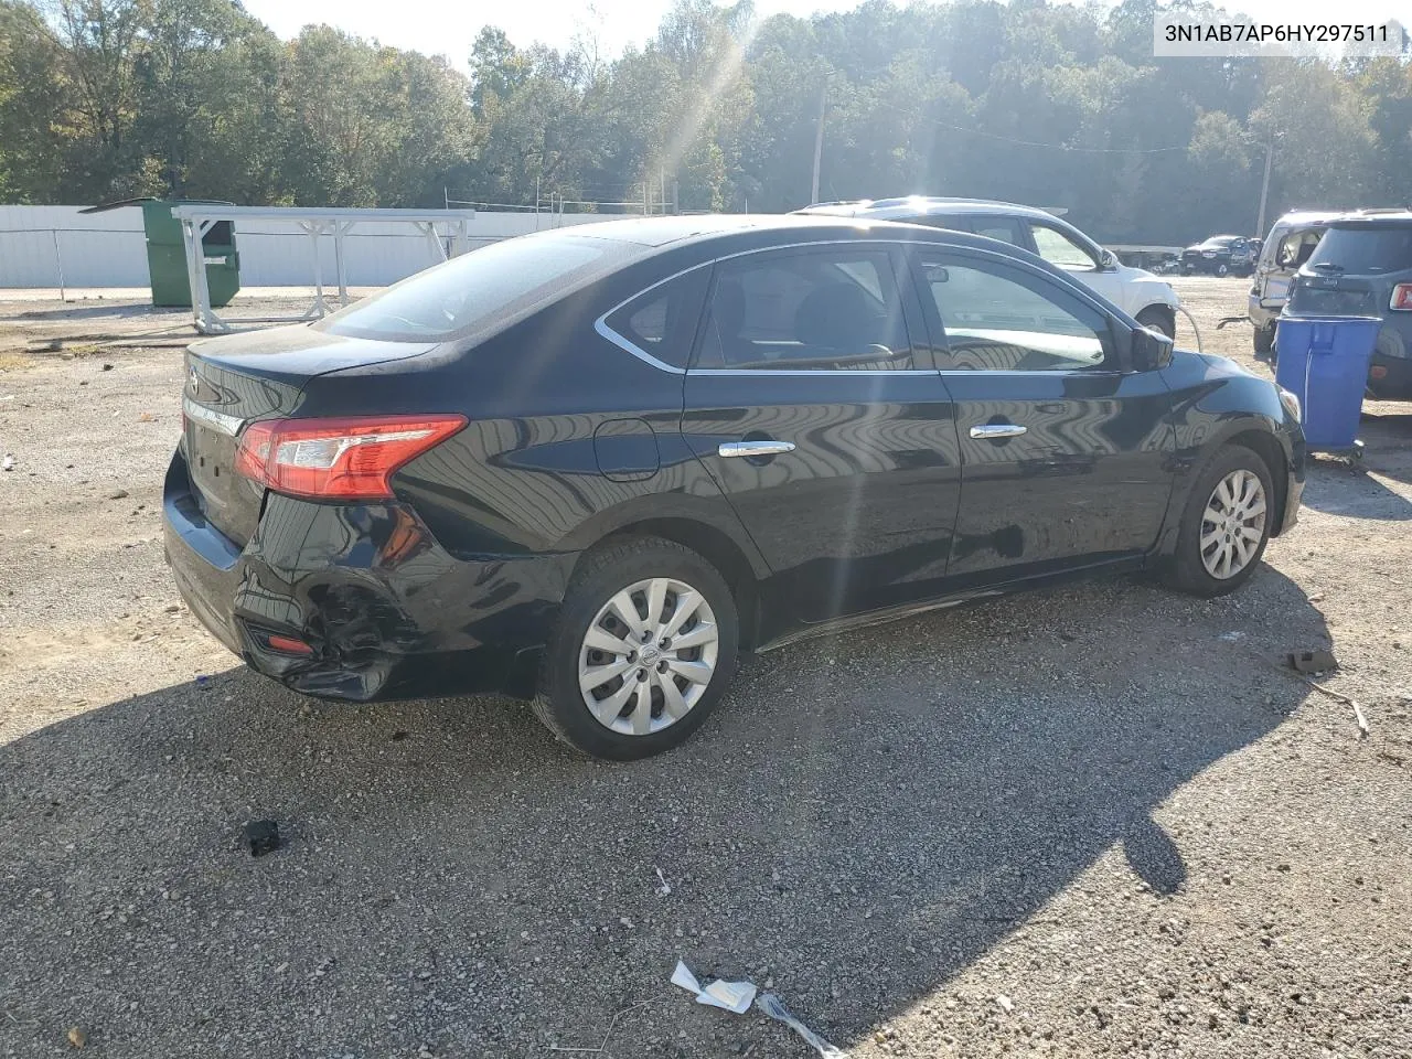
[[[740,620],[724,579],[674,541],[585,556],[545,654],[535,716],[593,757],[669,750],[706,720],[736,669]]]

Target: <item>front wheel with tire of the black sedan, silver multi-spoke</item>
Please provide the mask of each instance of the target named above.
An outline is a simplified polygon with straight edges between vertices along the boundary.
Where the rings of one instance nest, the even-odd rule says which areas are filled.
[[[1274,525],[1275,489],[1255,452],[1221,449],[1192,487],[1168,583],[1193,596],[1224,596],[1254,573]]]

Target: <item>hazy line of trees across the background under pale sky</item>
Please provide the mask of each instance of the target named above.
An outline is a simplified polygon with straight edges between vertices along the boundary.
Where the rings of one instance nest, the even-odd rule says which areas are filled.
[[[0,202],[777,212],[810,199],[820,116],[823,199],[1066,206],[1111,241],[1254,232],[1267,152],[1268,217],[1412,202],[1406,56],[1155,59],[1152,13],[678,0],[616,58],[487,27],[466,75],[326,25],[281,41],[236,0],[0,0]]]

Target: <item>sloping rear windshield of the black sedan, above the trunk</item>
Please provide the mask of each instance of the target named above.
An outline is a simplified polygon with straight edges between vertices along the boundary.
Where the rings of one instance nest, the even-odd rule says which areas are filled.
[[[313,325],[333,335],[445,342],[504,326],[610,273],[633,246],[545,234],[507,239],[455,257]]]

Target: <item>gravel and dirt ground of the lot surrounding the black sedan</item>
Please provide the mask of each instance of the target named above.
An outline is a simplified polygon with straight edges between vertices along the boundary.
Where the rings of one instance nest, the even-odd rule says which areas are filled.
[[[1245,285],[1178,287],[1251,364],[1214,328]],[[0,306],[0,1055],[812,1053],[678,957],[856,1056],[1412,1055],[1412,407],[1370,405],[1367,473],[1319,462],[1234,597],[808,642],[606,765],[515,703],[237,668],[162,566],[181,354],[102,337],[181,319],[20,316],[54,308]],[[1313,647],[1365,738],[1279,672]]]

